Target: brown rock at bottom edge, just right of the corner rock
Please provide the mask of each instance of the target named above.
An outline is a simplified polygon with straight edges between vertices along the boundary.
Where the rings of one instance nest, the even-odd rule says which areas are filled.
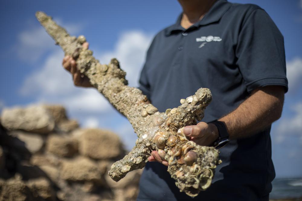
[[[27,187],[36,198],[40,196],[43,199],[56,200],[54,190],[46,178],[30,179],[27,181]]]

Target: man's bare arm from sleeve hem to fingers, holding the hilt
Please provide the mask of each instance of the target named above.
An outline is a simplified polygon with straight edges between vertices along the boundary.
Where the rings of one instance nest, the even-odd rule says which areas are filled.
[[[219,119],[223,121],[230,134],[230,139],[252,136],[264,130],[281,117],[284,102],[282,86],[259,87],[238,108]],[[195,126],[187,126],[184,133],[199,145],[209,146],[218,138],[218,130],[214,124],[199,122]],[[152,152],[149,161],[162,161],[156,151]]]

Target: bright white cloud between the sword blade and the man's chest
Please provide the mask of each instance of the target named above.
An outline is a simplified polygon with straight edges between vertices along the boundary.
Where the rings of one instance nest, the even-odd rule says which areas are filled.
[[[105,64],[109,63],[111,58],[117,58],[121,69],[127,73],[129,86],[138,86],[140,71],[151,39],[150,34],[142,31],[127,31],[121,34],[113,51],[96,55],[96,58]]]

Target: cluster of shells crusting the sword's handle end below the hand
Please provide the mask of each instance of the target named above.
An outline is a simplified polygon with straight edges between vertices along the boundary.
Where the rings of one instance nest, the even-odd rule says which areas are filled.
[[[218,150],[189,141],[184,127],[175,132],[157,132],[153,138],[159,156],[168,161],[168,171],[177,187],[189,196],[207,189],[220,163]]]

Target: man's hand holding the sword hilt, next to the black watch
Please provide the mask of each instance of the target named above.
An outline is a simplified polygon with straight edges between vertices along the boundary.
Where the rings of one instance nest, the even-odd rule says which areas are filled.
[[[219,137],[217,127],[214,124],[207,124],[205,122],[199,122],[194,126],[186,126],[184,133],[190,140],[202,146],[210,146]],[[148,161],[157,161],[168,166],[168,162],[162,160],[157,151],[151,152]]]

